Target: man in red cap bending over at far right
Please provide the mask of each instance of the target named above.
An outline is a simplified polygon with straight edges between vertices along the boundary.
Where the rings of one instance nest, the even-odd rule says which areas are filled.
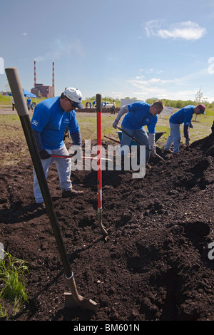
[[[200,103],[196,107],[194,105],[187,105],[178,112],[174,113],[170,119],[170,135],[168,137],[167,143],[165,145],[165,152],[166,153],[179,153],[180,148],[180,124],[184,123],[183,125],[183,135],[185,137],[185,144],[189,145],[190,137],[189,137],[189,130],[193,128],[191,120],[193,118],[193,114],[196,115],[204,114],[205,112],[205,105]],[[171,145],[174,143],[173,151],[170,150]]]

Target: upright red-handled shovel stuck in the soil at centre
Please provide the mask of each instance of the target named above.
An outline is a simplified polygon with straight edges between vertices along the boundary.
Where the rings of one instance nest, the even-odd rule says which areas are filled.
[[[108,237],[108,232],[102,225],[102,131],[101,131],[101,94],[96,95],[96,115],[97,115],[97,145],[98,145],[98,224],[103,235]]]

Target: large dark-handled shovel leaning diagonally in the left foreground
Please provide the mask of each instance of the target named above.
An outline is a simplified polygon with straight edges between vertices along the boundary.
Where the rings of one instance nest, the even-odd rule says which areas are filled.
[[[19,115],[22,128],[24,130],[24,135],[26,138],[26,143],[29,147],[31,154],[31,159],[34,164],[34,169],[36,171],[36,176],[39,181],[39,186],[41,188],[41,193],[44,197],[44,202],[46,205],[46,212],[49,215],[49,220],[51,222],[51,227],[54,232],[54,237],[56,239],[56,244],[58,247],[58,252],[61,256],[61,261],[63,264],[63,269],[65,272],[66,282],[68,284],[71,293],[65,294],[66,307],[79,306],[81,309],[90,309],[91,311],[97,311],[97,304],[91,299],[81,297],[76,289],[76,283],[74,280],[73,272],[71,272],[70,264],[68,261],[68,255],[66,254],[66,249],[63,244],[63,239],[61,237],[61,232],[58,226],[58,221],[56,217],[56,212],[54,210],[54,205],[51,200],[51,195],[49,192],[49,187],[46,182],[46,177],[44,175],[44,170],[41,165],[41,158],[39,156],[39,150],[36,145],[36,140],[34,138],[34,131],[31,128],[31,122],[29,119],[29,113],[26,108],[26,102],[24,99],[24,93],[21,88],[21,82],[19,80],[19,74],[16,68],[6,68],[6,76],[9,81],[9,86],[11,87],[11,92],[14,97],[16,110]]]

